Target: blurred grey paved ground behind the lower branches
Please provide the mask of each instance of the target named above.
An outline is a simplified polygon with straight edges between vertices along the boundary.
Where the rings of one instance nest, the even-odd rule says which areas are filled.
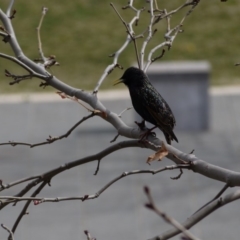
[[[128,99],[104,101],[121,112],[130,106]],[[222,167],[240,171],[240,95],[211,96],[211,129],[207,132],[177,132],[179,149],[195,149],[198,157]],[[51,134],[59,135],[87,112],[77,104],[62,102],[21,102],[0,104],[0,142],[6,140],[38,142]],[[132,122],[132,112],[124,114]],[[0,148],[0,178],[12,182],[35,175],[68,161],[79,159],[109,146],[116,131],[97,117],[79,127],[68,139],[49,146]],[[160,132],[158,133],[161,134]],[[119,141],[123,138],[119,138]],[[98,191],[104,184],[124,171],[159,168],[172,163],[162,162],[148,166],[145,161],[151,152],[144,149],[124,149],[106,157],[97,176],[96,163],[66,171],[52,180],[42,197],[82,196]],[[115,183],[98,199],[79,202],[43,203],[31,206],[17,229],[15,239],[86,239],[89,230],[99,240],[147,239],[169,226],[153,212],[144,208],[146,197],[143,186],[151,187],[157,205],[170,216],[181,221],[211,199],[223,187],[222,183],[184,171],[178,181],[170,177],[178,171],[161,174],[135,175]],[[3,194],[13,194],[13,188]],[[231,190],[229,190],[231,192]],[[202,239],[237,239],[240,235],[239,202],[215,212],[204,219],[192,232]],[[11,227],[23,203],[1,211],[0,223]],[[1,239],[6,232],[0,229]],[[175,238],[179,239],[179,237]]]

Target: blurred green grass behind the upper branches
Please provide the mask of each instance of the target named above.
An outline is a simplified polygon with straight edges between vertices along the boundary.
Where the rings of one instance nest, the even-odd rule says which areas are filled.
[[[135,0],[138,7],[144,1]],[[180,0],[158,1],[159,8],[172,9],[180,5]],[[6,9],[8,1],[4,0],[0,7]],[[115,0],[124,19],[133,16],[130,10],[121,10],[127,0]],[[161,5],[160,5],[161,4]],[[17,10],[13,25],[19,43],[31,59],[38,57],[36,27],[39,23],[41,8],[46,6],[49,11],[41,29],[43,50],[46,56],[56,55],[59,67],[53,67],[52,73],[62,81],[78,88],[92,89],[111,63],[109,54],[116,51],[124,42],[126,30],[109,5],[109,1],[101,0],[17,0],[14,8]],[[183,11],[172,17],[177,23]],[[148,13],[143,12],[136,33],[148,23]],[[157,26],[158,32],[148,49],[163,40],[166,22]],[[240,2],[229,0],[201,0],[199,6],[186,19],[184,32],[175,39],[173,47],[168,51],[165,60],[208,60],[212,65],[211,84],[238,84],[240,67]],[[138,46],[141,40],[138,41]],[[12,54],[8,44],[0,43],[0,51]],[[127,68],[135,62],[133,45],[121,55],[119,63]],[[32,79],[19,85],[9,86],[4,77],[4,69],[14,73],[21,69],[6,60],[0,59],[0,91],[42,91],[38,87],[39,80]],[[112,88],[112,80],[122,72],[116,69],[105,80],[103,88]],[[49,88],[49,90],[51,90]]]

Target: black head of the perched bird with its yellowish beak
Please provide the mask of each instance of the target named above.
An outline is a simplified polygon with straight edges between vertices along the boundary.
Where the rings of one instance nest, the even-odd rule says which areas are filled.
[[[141,86],[144,81],[147,79],[145,73],[139,68],[130,67],[128,68],[122,77],[115,81],[114,86],[119,83],[124,83],[129,86]]]

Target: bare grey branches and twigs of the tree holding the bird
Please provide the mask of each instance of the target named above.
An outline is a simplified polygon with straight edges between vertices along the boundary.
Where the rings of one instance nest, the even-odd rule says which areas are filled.
[[[46,57],[44,57],[44,53],[42,50],[42,42],[41,42],[41,38],[40,38],[40,28],[42,25],[43,18],[46,14],[46,8],[43,8],[42,17],[40,19],[39,26],[37,28],[39,54],[40,54],[41,59],[43,60],[44,64],[37,64],[36,62],[34,62],[34,61],[30,60],[28,57],[26,57],[16,39],[15,32],[14,32],[14,29],[12,27],[12,22],[11,22],[11,18],[14,17],[14,12],[11,15],[11,9],[12,9],[14,0],[11,0],[9,2],[9,6],[8,6],[6,14],[0,9],[0,20],[3,23],[3,27],[0,29],[0,31],[1,31],[0,36],[3,37],[3,41],[5,43],[10,44],[10,47],[12,48],[14,55],[15,55],[15,57],[12,57],[12,56],[0,53],[0,57],[15,62],[16,64],[21,66],[23,69],[25,69],[29,73],[28,75],[17,76],[6,70],[5,71],[6,76],[14,79],[14,81],[11,83],[12,84],[19,83],[22,80],[36,77],[36,78],[39,78],[39,79],[42,79],[45,81],[45,83],[42,83],[42,85],[44,85],[44,86],[50,85],[53,88],[58,89],[60,92],[64,93],[65,95],[70,96],[69,97],[70,99],[72,99],[72,100],[80,99],[80,100],[84,101],[85,103],[88,103],[94,109],[93,112],[89,116],[86,116],[83,119],[81,119],[67,133],[61,135],[60,137],[51,137],[50,136],[47,139],[47,141],[38,143],[38,144],[8,142],[8,143],[0,144],[0,145],[13,145],[13,146],[27,145],[30,147],[34,147],[34,146],[49,144],[56,140],[59,140],[59,139],[69,136],[69,134],[71,134],[71,132],[79,124],[81,124],[83,121],[87,120],[88,118],[94,116],[95,114],[99,115],[103,120],[112,124],[118,132],[117,136],[122,135],[122,136],[125,136],[128,138],[133,138],[133,139],[139,139],[141,137],[141,135],[144,133],[143,129],[127,126],[121,119],[122,113],[120,115],[117,115],[116,113],[108,110],[102,104],[102,102],[99,101],[96,93],[98,92],[98,90],[99,90],[102,82],[106,78],[106,76],[108,74],[110,74],[114,70],[115,67],[122,68],[118,63],[119,56],[132,41],[134,43],[134,48],[135,48],[135,53],[136,53],[136,58],[138,61],[139,68],[144,69],[144,71],[147,71],[148,67],[150,66],[150,64],[152,62],[156,61],[157,59],[161,58],[164,55],[165,50],[162,49],[162,53],[154,58],[153,58],[153,54],[155,54],[155,52],[158,49],[163,48],[165,46],[168,47],[168,49],[170,49],[170,47],[172,46],[173,41],[175,40],[178,33],[180,33],[182,31],[183,22],[185,21],[186,17],[192,13],[192,11],[198,5],[200,0],[187,0],[180,7],[176,8],[172,11],[169,11],[169,12],[167,12],[166,9],[159,10],[156,0],[154,0],[154,2],[153,2],[153,0],[149,0],[148,1],[149,6],[150,6],[149,24],[147,26],[147,29],[144,30],[143,33],[140,34],[139,36],[135,36],[133,25],[134,24],[137,25],[138,20],[140,18],[140,14],[143,11],[143,9],[136,9],[133,6],[133,2],[134,2],[133,0],[130,0],[128,5],[124,7],[125,9],[129,8],[135,12],[134,17],[131,19],[131,21],[129,23],[125,22],[125,20],[121,17],[120,13],[117,11],[117,9],[114,7],[114,5],[111,3],[111,6],[115,10],[115,12],[117,13],[117,15],[119,16],[120,20],[122,21],[122,23],[124,24],[124,26],[127,30],[127,37],[126,37],[126,40],[123,43],[123,45],[114,54],[112,54],[113,62],[112,62],[112,64],[108,65],[106,67],[106,69],[104,70],[102,76],[100,77],[100,79],[98,80],[98,82],[96,84],[96,87],[95,87],[93,93],[87,93],[81,89],[73,88],[73,87],[63,83],[55,76],[52,76],[46,70],[47,67],[50,67],[56,63],[55,56],[50,56],[49,58],[46,58]],[[155,5],[155,8],[154,8],[154,5]],[[185,13],[184,17],[182,18],[182,20],[180,21],[180,23],[178,23],[175,27],[171,27],[170,17],[172,17],[173,14],[177,13],[178,11],[182,10],[185,7],[188,7],[187,8],[188,10],[186,11],[186,13]],[[165,34],[165,41],[157,44],[154,48],[152,48],[149,51],[148,54],[146,54],[145,53],[146,47],[155,33],[155,30],[153,30],[153,26],[162,19],[167,20],[167,31]],[[139,60],[137,41],[136,41],[136,39],[138,37],[145,37],[145,40],[143,41],[143,45],[141,48],[141,57],[140,57],[141,59],[140,60]],[[147,56],[147,62],[146,62],[146,65],[143,66],[145,54]],[[116,139],[117,139],[117,137],[114,138],[114,140],[116,140]],[[41,192],[41,190],[46,186],[47,183],[50,184],[50,180],[54,176],[56,176],[57,174],[59,174],[63,171],[66,171],[70,168],[73,168],[75,166],[79,166],[79,165],[82,165],[82,164],[85,164],[85,163],[88,163],[91,161],[98,161],[98,166],[95,171],[95,174],[96,174],[99,171],[99,164],[100,164],[101,159],[104,158],[105,156],[111,154],[114,151],[117,151],[121,148],[127,148],[127,147],[142,147],[142,148],[149,148],[154,151],[159,151],[159,150],[161,150],[161,148],[160,148],[161,143],[162,143],[162,141],[160,139],[156,138],[154,135],[149,135],[145,142],[139,142],[138,140],[123,141],[120,143],[116,143],[97,154],[87,156],[85,158],[81,158],[81,159],[78,159],[75,161],[67,162],[66,164],[63,164],[60,167],[51,169],[41,175],[26,177],[26,178],[23,178],[20,180],[16,180],[9,184],[2,184],[2,182],[1,182],[0,191],[4,191],[5,189],[10,188],[12,186],[28,182],[28,184],[23,189],[21,189],[21,191],[18,192],[15,196],[0,197],[0,199],[5,199],[5,201],[1,201],[0,209],[4,208],[9,203],[16,204],[18,201],[27,201],[15,222],[12,231],[9,230],[9,233],[10,233],[9,238],[10,237],[13,238],[13,233],[16,231],[16,228],[17,228],[19,222],[21,221],[22,217],[26,214],[26,211],[27,211],[30,203],[33,200],[36,201],[35,204],[39,204],[41,202],[57,202],[57,201],[66,201],[66,200],[82,200],[82,201],[84,201],[84,200],[88,200],[88,199],[94,199],[94,198],[97,198],[100,194],[102,194],[106,189],[108,189],[108,187],[110,187],[116,181],[118,181],[121,178],[124,178],[128,175],[140,174],[140,173],[155,174],[155,173],[165,171],[165,170],[170,170],[170,169],[180,168],[180,170],[181,170],[182,168],[188,168],[196,173],[202,174],[203,176],[224,182],[224,183],[226,183],[226,185],[213,200],[211,200],[209,203],[205,204],[200,210],[198,210],[195,214],[193,214],[187,221],[185,221],[181,225],[179,223],[177,223],[175,220],[168,217],[166,214],[162,213],[155,206],[155,204],[149,194],[148,194],[148,197],[150,200],[150,204],[148,205],[148,207],[151,207],[156,213],[160,214],[162,217],[164,217],[164,219],[166,221],[168,221],[175,227],[174,229],[172,229],[166,233],[163,233],[161,236],[157,236],[154,239],[168,239],[171,236],[175,236],[179,232],[184,232],[185,235],[190,239],[196,239],[188,231],[186,231],[186,229],[195,225],[197,222],[199,222],[201,219],[203,219],[204,217],[206,217],[207,215],[209,215],[211,212],[215,211],[219,207],[240,198],[239,191],[236,191],[233,194],[228,194],[223,198],[219,198],[222,195],[222,193],[229,186],[231,186],[231,187],[240,186],[240,173],[209,164],[207,162],[204,162],[203,160],[198,159],[192,153],[191,154],[183,153],[183,152],[179,151],[178,149],[174,148],[173,146],[170,146],[167,144],[165,144],[167,152],[168,152],[168,155],[166,157],[171,159],[173,162],[175,162],[176,164],[179,164],[179,165],[168,166],[168,167],[161,168],[158,170],[135,170],[135,171],[131,171],[131,172],[124,172],[120,176],[118,176],[118,177],[114,178],[112,181],[108,182],[97,193],[92,194],[92,195],[85,195],[85,196],[80,196],[80,197],[65,197],[65,198],[38,198],[38,197],[36,197],[36,195]],[[167,152],[165,152],[165,153],[167,154]],[[155,155],[157,155],[157,153]],[[185,164],[183,164],[183,163],[185,163]],[[175,179],[178,179],[181,176],[181,174],[182,174],[182,172],[180,173],[180,175],[175,177]],[[34,193],[31,195],[31,197],[26,197],[25,194],[28,193],[31,189],[33,189],[35,187],[36,187],[36,189],[35,189]],[[176,230],[176,228],[178,228],[178,230]],[[88,234],[88,232],[87,233],[85,232],[85,234],[87,235],[88,239],[92,239],[92,237],[90,236],[90,234]]]

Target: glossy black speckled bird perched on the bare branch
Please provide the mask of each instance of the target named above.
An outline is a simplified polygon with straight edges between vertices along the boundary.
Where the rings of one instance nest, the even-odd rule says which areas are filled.
[[[152,123],[154,128],[158,127],[163,132],[168,144],[171,144],[172,140],[178,142],[173,132],[176,124],[174,115],[167,102],[153,87],[142,70],[135,67],[128,68],[115,85],[118,83],[124,83],[128,87],[136,112],[144,120]]]

